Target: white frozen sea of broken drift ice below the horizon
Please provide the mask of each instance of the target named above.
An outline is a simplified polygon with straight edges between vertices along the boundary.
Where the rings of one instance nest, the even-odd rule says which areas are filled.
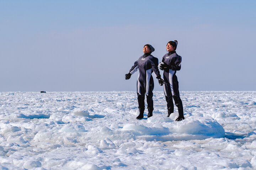
[[[0,170],[256,169],[256,91],[183,91],[185,120],[137,94],[0,92]]]

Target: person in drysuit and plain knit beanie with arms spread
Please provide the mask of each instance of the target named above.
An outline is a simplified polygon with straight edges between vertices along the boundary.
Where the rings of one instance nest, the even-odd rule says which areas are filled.
[[[158,58],[151,55],[155,51],[154,47],[150,44],[146,44],[143,47],[144,55],[139,57],[139,60],[134,62],[134,66],[130,69],[129,73],[125,75],[125,79],[130,79],[131,75],[139,69],[139,75],[137,79],[137,96],[139,103],[139,115],[137,119],[143,118],[143,113],[145,110],[145,94],[146,101],[148,103],[148,118],[153,116],[153,89],[154,81],[152,73],[156,74],[159,85],[164,84],[164,80],[161,79],[161,75],[158,69]]]

